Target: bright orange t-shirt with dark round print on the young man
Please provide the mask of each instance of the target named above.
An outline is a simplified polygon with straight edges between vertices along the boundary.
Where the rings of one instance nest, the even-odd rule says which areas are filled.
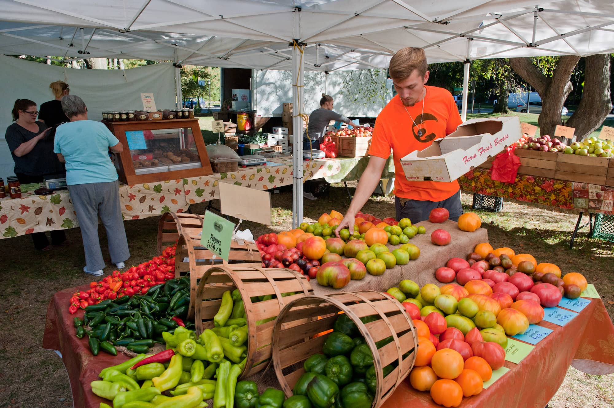
[[[400,159],[415,150],[424,150],[433,140],[446,137],[462,123],[452,94],[436,86],[425,86],[424,114],[422,102],[412,107],[403,106],[400,97],[395,96],[379,113],[371,139],[371,156],[394,158],[394,195],[419,201],[443,201],[459,191],[459,183],[441,181],[408,181],[401,167]],[[409,113],[409,115],[408,115]],[[416,121],[416,127],[411,118]],[[418,132],[422,132],[422,136]]]

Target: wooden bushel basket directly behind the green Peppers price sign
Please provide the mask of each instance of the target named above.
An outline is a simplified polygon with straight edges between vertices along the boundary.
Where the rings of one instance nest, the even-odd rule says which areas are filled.
[[[222,265],[262,266],[262,257],[255,243],[245,241],[238,243],[232,240],[230,242],[230,252],[228,252],[228,261],[226,261],[202,246],[200,235],[182,234],[179,236],[175,258],[175,278],[181,278],[181,276],[186,275],[190,276],[188,319],[194,317],[198,282],[207,270],[214,266]]]

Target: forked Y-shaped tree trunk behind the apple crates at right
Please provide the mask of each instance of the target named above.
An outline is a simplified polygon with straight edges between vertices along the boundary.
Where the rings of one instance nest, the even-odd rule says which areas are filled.
[[[551,135],[556,125],[562,124],[561,109],[573,89],[569,78],[578,61],[580,61],[579,56],[562,56],[556,64],[552,77],[547,78],[529,58],[510,58],[510,66],[516,74],[533,86],[542,97],[542,113],[538,119],[540,134]]]

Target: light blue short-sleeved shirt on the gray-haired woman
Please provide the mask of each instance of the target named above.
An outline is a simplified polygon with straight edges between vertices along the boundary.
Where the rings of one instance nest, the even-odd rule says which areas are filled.
[[[66,184],[108,183],[117,180],[109,147],[119,140],[101,122],[74,121],[58,126],[53,152],[66,159]]]

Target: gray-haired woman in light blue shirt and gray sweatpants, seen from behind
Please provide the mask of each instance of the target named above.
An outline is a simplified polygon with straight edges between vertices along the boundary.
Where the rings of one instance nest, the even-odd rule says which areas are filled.
[[[122,153],[122,143],[103,123],[87,119],[87,107],[76,95],[62,98],[70,123],[58,126],[53,151],[66,163],[66,184],[77,212],[85,249],[85,273],[101,276],[105,266],[98,240],[98,217],[107,232],[111,262],[123,268],[130,257],[119,203],[117,170],[109,149]]]

